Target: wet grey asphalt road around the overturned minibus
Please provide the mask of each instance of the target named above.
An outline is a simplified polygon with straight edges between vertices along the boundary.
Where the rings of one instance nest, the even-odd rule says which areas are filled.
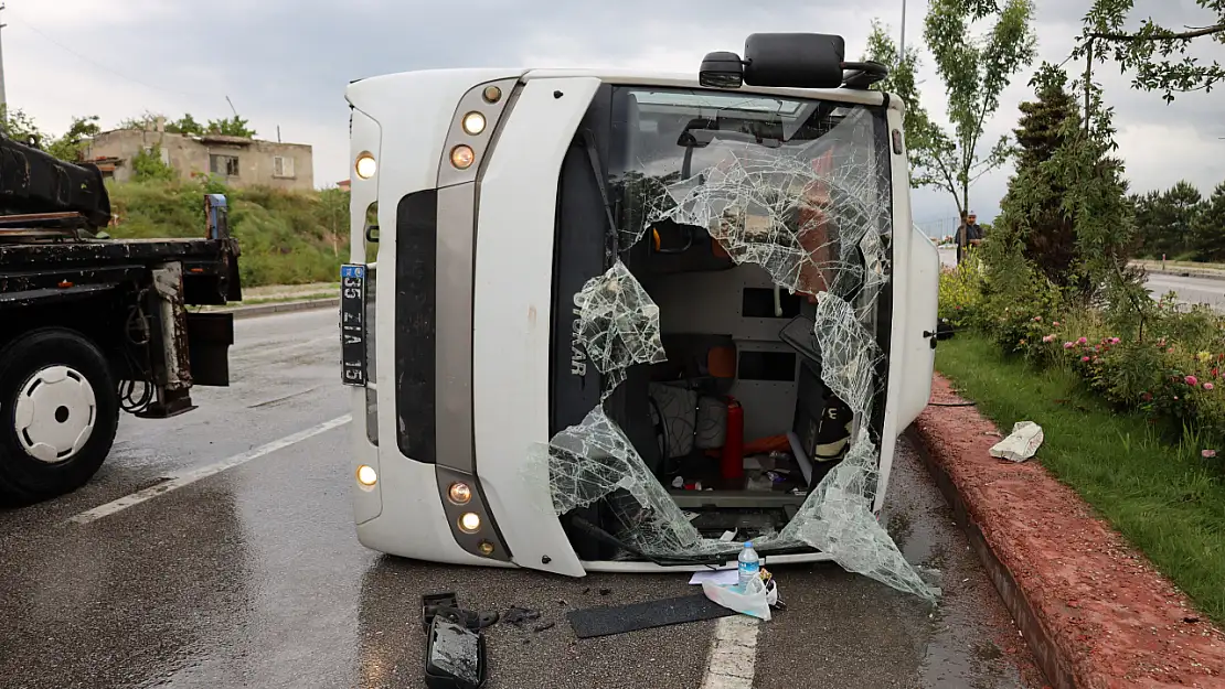
[[[239,321],[236,330],[232,387],[197,389],[200,408],[175,419],[125,416],[93,482],[0,512],[6,689],[424,687],[418,601],[439,590],[468,607],[527,606],[556,622],[540,633],[488,631],[490,689],[703,687],[720,623],[577,640],[564,617],[695,592],[687,575],[567,579],[361,547],[348,499],[348,426],[72,521],[349,412],[332,310]],[[752,687],[1041,687],[909,445],[894,467],[882,519],[913,563],[938,572],[941,605],[832,564],[771,568],[788,609],[757,629]]]

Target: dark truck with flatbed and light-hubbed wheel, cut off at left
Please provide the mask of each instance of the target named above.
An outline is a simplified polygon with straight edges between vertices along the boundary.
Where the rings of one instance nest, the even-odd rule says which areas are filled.
[[[0,504],[86,485],[120,411],[167,419],[229,384],[233,315],[187,310],[243,296],[227,199],[202,201],[200,239],[110,239],[97,165],[0,137]]]

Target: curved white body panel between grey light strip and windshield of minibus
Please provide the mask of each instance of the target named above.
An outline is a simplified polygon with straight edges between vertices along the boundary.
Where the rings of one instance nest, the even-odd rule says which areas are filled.
[[[556,180],[599,86],[598,78],[573,77],[523,87],[480,182],[477,220],[478,474],[516,564],[572,576],[583,567],[561,523],[549,518],[548,476],[526,481],[524,464],[533,443],[549,442],[552,272],[544,268],[552,267]],[[527,494],[532,483],[538,494]]]

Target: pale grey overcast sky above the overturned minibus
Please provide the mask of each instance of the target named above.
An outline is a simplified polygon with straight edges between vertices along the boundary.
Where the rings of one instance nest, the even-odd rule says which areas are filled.
[[[315,148],[317,186],[348,177],[345,84],[359,77],[456,66],[620,66],[693,71],[709,50],[741,51],[751,32],[817,31],[846,38],[859,58],[872,17],[900,33],[903,0],[665,2],[619,0],[5,0],[0,15],[7,99],[43,130],[62,132],[74,115],[104,128],[145,110],[197,120],[230,115],[228,95],[261,138]],[[1143,12],[1178,27],[1212,17],[1193,0],[1142,0]],[[1062,61],[1089,0],[1038,0],[1040,59]],[[926,0],[909,0],[907,43],[921,42]],[[1138,18],[1138,17],[1137,17]],[[1225,47],[1197,55],[1225,61]],[[1031,69],[1014,77],[984,141],[1016,126],[1031,97]],[[1116,108],[1120,154],[1133,191],[1180,179],[1209,193],[1225,181],[1225,100],[1220,91],[1181,95],[1133,92],[1129,77],[1100,72]],[[943,119],[943,86],[924,53],[922,100]],[[405,117],[410,114],[405,113]],[[984,147],[985,149],[986,147]],[[1011,169],[984,176],[970,207],[991,220]],[[914,218],[936,229],[956,206],[947,193],[916,191]],[[951,223],[951,220],[948,220]],[[948,225],[947,230],[951,230]]]

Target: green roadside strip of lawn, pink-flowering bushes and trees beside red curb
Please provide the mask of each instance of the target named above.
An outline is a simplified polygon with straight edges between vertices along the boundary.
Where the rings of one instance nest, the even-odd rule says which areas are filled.
[[[1208,199],[1182,182],[1128,193],[1093,80],[1111,62],[1167,103],[1225,80],[1192,54],[1225,35],[1225,9],[1198,4],[1203,29],[1127,32],[1132,4],[1095,0],[1073,51],[1083,73],[1034,71],[1005,144],[1016,171],[1001,213],[941,274],[941,317],[958,334],[936,365],[1001,427],[1041,425],[1038,460],[1225,622],[1225,316],[1154,300],[1134,262],[1225,258],[1225,186]]]

